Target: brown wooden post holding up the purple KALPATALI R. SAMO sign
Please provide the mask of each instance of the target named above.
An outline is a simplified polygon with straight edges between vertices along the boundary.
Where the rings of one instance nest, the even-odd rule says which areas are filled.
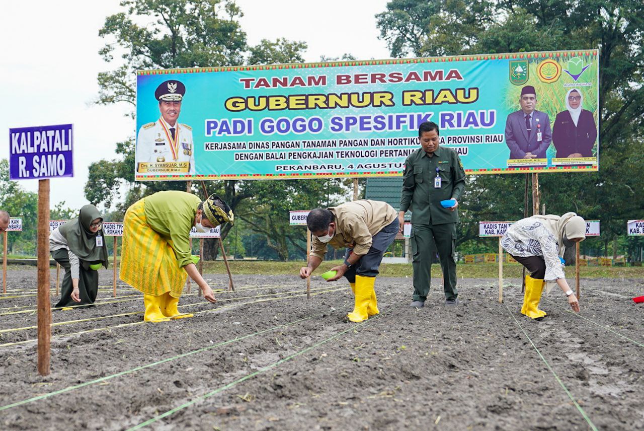
[[[52,309],[49,300],[49,180],[38,180],[38,372],[50,372]]]

